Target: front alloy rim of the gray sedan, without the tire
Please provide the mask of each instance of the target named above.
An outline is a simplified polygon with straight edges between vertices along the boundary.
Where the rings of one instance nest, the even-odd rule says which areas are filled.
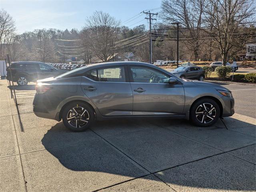
[[[210,103],[203,103],[196,108],[196,119],[200,123],[210,123],[216,117],[216,108]]]

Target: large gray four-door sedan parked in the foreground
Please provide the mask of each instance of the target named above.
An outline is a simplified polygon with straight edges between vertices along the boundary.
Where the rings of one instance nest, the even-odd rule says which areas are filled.
[[[108,62],[38,80],[33,111],[83,131],[94,120],[168,116],[210,126],[234,114],[230,90],[208,82],[183,80],[142,62]]]

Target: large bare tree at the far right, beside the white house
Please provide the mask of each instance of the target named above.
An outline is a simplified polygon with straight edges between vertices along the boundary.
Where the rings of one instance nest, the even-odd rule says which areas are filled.
[[[230,51],[233,54],[240,51],[253,34],[244,25],[254,20],[256,3],[255,0],[208,0],[206,7],[204,31],[220,50],[225,66]]]

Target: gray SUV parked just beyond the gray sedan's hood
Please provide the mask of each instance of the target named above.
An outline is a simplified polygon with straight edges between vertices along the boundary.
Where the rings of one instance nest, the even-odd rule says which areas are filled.
[[[171,73],[182,79],[196,79],[199,81],[203,81],[205,71],[202,70],[201,67],[197,66],[180,66],[173,70]]]

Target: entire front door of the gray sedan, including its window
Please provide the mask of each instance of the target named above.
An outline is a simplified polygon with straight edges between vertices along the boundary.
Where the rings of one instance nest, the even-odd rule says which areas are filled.
[[[183,113],[185,97],[182,84],[163,83],[170,76],[150,67],[131,66],[129,72],[132,78],[133,115]]]

